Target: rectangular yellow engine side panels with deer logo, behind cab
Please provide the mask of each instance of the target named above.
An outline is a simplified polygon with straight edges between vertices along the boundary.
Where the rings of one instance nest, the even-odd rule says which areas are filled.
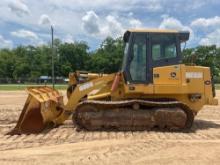
[[[209,68],[183,64],[154,68],[154,93],[204,94],[206,70]]]

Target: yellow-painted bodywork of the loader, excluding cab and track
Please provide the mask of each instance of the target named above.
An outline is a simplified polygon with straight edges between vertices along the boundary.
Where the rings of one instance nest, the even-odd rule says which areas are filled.
[[[198,78],[201,73],[202,77]],[[186,78],[186,74],[192,78]],[[71,76],[74,77],[73,75],[77,74]],[[49,87],[29,89],[30,95],[41,102],[41,113],[45,122],[53,121],[56,124],[62,124],[74,112],[78,103],[84,97],[92,100],[107,98],[111,98],[111,100],[170,98],[185,103],[194,112],[201,110],[204,105],[217,104],[217,99],[212,96],[211,84],[205,84],[205,81],[211,81],[210,70],[207,67],[185,66],[183,64],[157,67],[153,69],[153,75],[157,76],[153,76],[152,84],[127,84],[123,74],[120,74],[120,83],[113,92],[111,86],[116,74],[87,73],[86,75],[88,76],[87,81],[76,84],[76,88],[70,94],[66,105],[63,105],[62,101],[58,101],[61,98],[59,93]],[[195,94],[200,95],[201,99],[190,99],[190,96]],[[56,99],[57,101],[50,102],[50,107],[45,106],[44,103],[48,100]],[[63,107],[63,112],[59,116],[56,112],[57,105]]]

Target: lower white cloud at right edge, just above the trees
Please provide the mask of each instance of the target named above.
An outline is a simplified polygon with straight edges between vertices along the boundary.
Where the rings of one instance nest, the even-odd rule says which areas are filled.
[[[220,47],[220,29],[215,30],[207,34],[204,38],[202,38],[199,42],[200,45],[216,45]]]

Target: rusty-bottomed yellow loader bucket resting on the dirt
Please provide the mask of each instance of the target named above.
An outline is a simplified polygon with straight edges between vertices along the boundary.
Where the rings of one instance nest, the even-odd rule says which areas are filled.
[[[40,133],[63,111],[63,96],[50,87],[27,88],[28,98],[8,135]]]

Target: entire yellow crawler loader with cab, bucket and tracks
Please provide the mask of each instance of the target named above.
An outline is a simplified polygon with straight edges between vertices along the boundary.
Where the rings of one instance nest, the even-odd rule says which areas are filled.
[[[84,130],[185,130],[204,105],[217,105],[210,68],[182,64],[189,32],[131,29],[118,73],[69,74],[68,102],[47,86],[29,96],[9,134],[40,133],[72,117]]]

